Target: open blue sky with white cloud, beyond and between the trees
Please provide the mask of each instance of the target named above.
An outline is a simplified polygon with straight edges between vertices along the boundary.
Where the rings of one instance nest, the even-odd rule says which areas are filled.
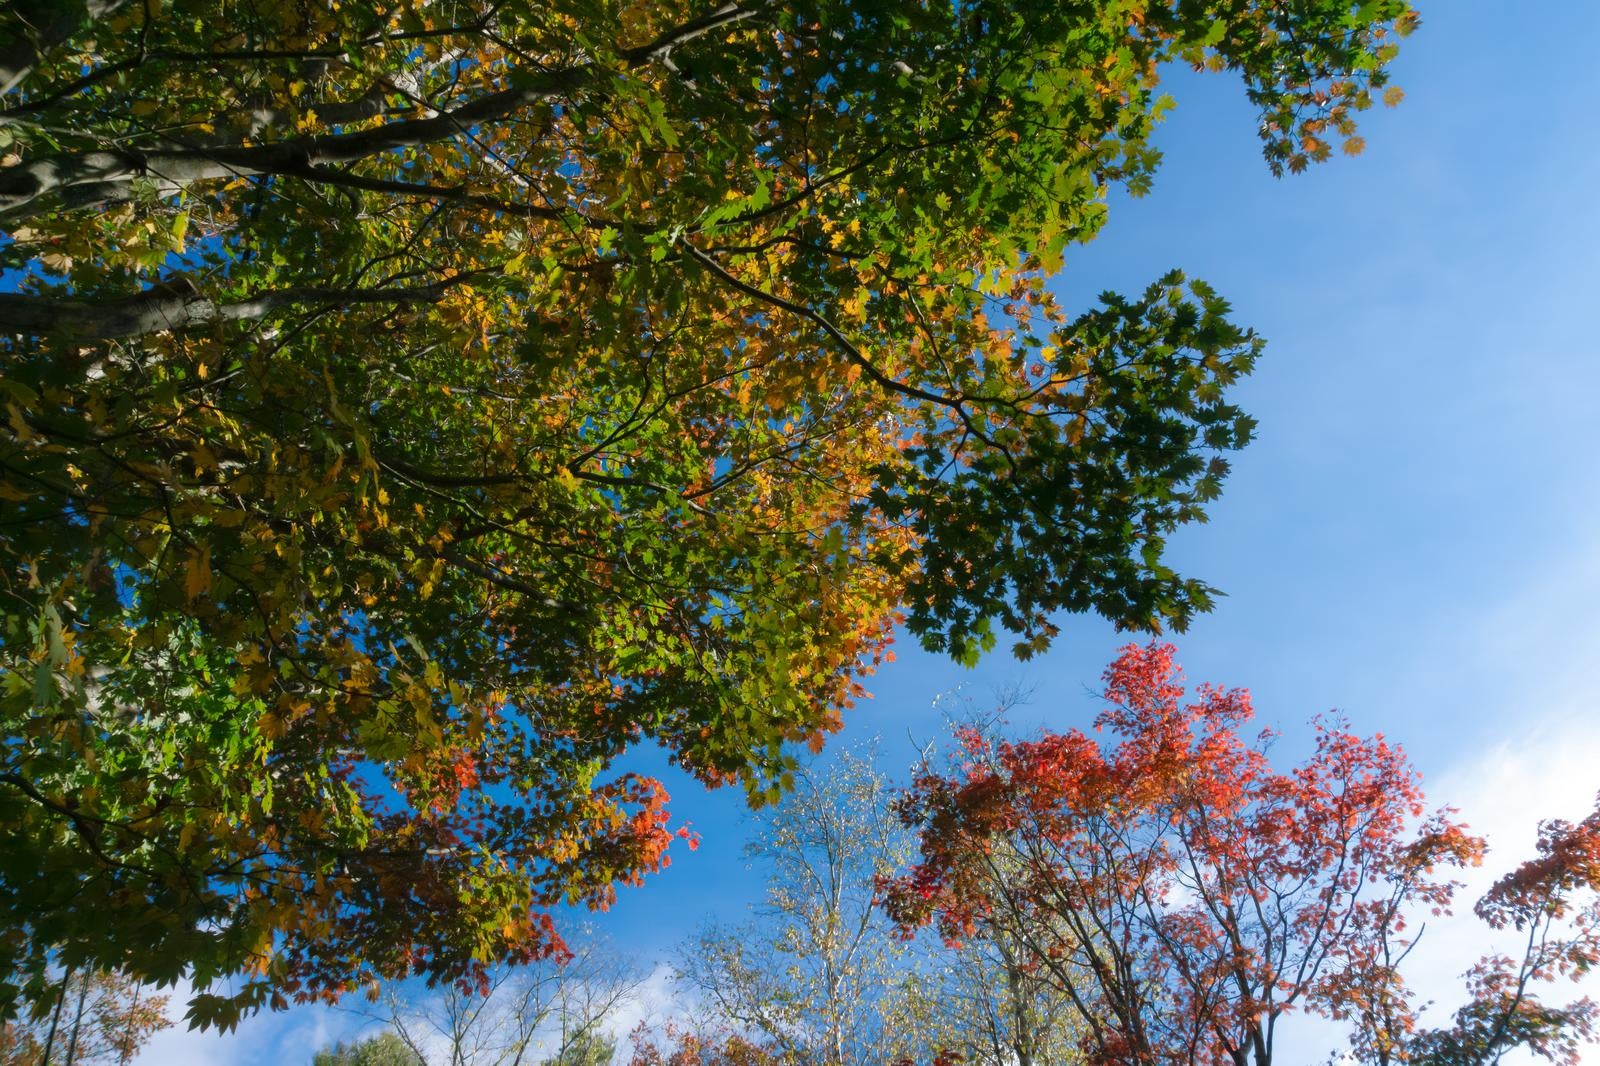
[[[1330,707],[1398,739],[1506,868],[1538,818],[1600,791],[1600,3],[1438,0],[1422,18],[1397,64],[1406,99],[1368,112],[1366,152],[1298,178],[1267,173],[1234,80],[1174,77],[1154,192],[1118,197],[1058,285],[1083,304],[1182,267],[1269,341],[1237,394],[1259,437],[1211,523],[1173,546],[1227,592],[1176,637],[1189,677],[1250,687],[1286,755]],[[1086,725],[1125,640],[1074,619],[1043,658],[974,671],[902,643],[835,743],[880,735],[906,757],[957,687],[1029,690],[1024,727]],[[597,920],[646,962],[760,892],[739,795],[669,784],[701,850]],[[1461,924],[1429,936],[1419,983],[1445,996],[1480,944]],[[141,1063],[304,1061],[349,1026],[293,1012],[173,1032]]]

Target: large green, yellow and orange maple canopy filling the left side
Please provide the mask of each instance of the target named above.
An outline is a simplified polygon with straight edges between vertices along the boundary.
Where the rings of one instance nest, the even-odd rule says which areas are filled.
[[[0,972],[197,1023],[558,956],[904,618],[1181,627],[1258,341],[1046,277],[1171,62],[1301,170],[1403,0],[18,0],[0,13]],[[213,991],[242,976],[230,991]]]

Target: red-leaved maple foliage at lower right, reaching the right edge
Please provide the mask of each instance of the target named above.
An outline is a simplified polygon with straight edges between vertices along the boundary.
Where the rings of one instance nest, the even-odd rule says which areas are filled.
[[[1418,773],[1381,735],[1318,719],[1312,755],[1278,771],[1270,731],[1242,736],[1248,691],[1186,698],[1179,682],[1171,647],[1123,648],[1094,723],[1115,744],[957,730],[952,765],[925,768],[901,802],[922,847],[880,884],[901,928],[1024,944],[1069,994],[1093,1064],[1269,1066],[1296,1010],[1349,1021],[1365,1061],[1576,1047],[1589,1007],[1542,1008],[1528,984],[1595,959],[1595,912],[1573,893],[1600,887],[1600,815],[1547,828],[1542,866],[1480,904],[1491,925],[1542,932],[1522,962],[1480,964],[1453,1028],[1422,1032],[1398,970],[1406,924],[1450,908],[1448,871],[1477,864],[1483,842],[1450,810],[1424,815]],[[1578,927],[1566,940],[1563,920]]]

